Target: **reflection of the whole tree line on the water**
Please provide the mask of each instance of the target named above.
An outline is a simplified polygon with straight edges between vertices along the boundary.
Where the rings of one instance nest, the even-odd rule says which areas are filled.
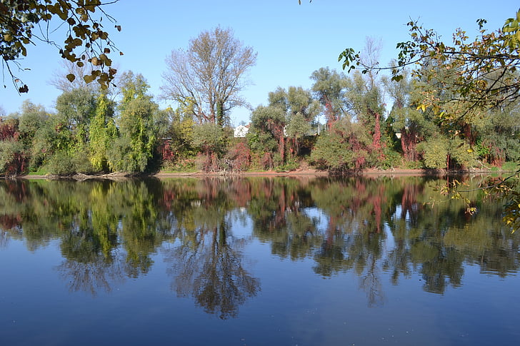
[[[419,177],[2,180],[0,246],[12,238],[36,251],[57,241],[60,275],[71,291],[92,295],[149,273],[153,255],[161,254],[172,290],[223,319],[261,289],[244,266],[251,238],[279,258],[311,258],[324,278],[355,273],[369,306],[384,303],[386,277],[398,285],[416,273],[426,292],[443,294],[464,284],[467,264],[501,277],[516,273],[520,233],[500,223],[501,203],[469,193],[479,210],[469,215],[464,203],[442,199],[432,188],[446,183]],[[480,180],[467,183],[471,190]],[[244,220],[251,238],[232,234]]]

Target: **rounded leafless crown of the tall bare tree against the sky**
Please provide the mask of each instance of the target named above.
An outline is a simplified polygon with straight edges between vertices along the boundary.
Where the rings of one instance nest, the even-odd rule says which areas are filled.
[[[204,31],[186,51],[172,51],[166,58],[162,97],[181,103],[200,123],[224,126],[231,108],[248,106],[239,93],[255,63],[256,52],[235,39],[231,29]]]

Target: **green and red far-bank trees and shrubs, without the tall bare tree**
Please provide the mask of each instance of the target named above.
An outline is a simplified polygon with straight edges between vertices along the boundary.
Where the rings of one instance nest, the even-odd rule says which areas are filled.
[[[251,112],[249,132],[199,122],[189,105],[160,109],[146,79],[121,75],[119,99],[90,86],[70,88],[56,111],[25,101],[0,120],[3,175],[291,171],[366,168],[489,170],[520,158],[520,104],[443,126],[417,108],[421,81],[399,83],[330,68],[312,73],[311,90],[276,88]],[[384,96],[394,106],[385,114]],[[317,119],[324,115],[326,123]],[[506,166],[507,167],[507,166]],[[510,168],[514,168],[512,165]]]

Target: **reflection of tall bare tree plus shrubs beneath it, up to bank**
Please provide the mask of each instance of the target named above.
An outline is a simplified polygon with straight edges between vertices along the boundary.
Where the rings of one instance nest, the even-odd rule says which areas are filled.
[[[165,250],[171,285],[177,295],[193,297],[196,305],[221,319],[235,317],[239,305],[260,290],[259,279],[244,269],[246,242],[231,233],[231,214],[242,195],[233,180],[206,178],[175,190],[169,209],[176,220],[176,246]],[[194,193],[193,193],[194,192]],[[170,194],[171,195],[171,194]]]

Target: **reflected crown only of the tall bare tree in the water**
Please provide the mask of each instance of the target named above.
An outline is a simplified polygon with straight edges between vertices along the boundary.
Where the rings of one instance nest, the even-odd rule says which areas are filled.
[[[192,230],[194,237],[166,252],[174,276],[172,289],[181,297],[194,297],[206,312],[221,319],[236,317],[239,305],[260,290],[260,281],[244,269],[240,248],[244,240],[228,235],[228,223],[222,220],[212,229]],[[195,238],[196,243],[182,243]]]

